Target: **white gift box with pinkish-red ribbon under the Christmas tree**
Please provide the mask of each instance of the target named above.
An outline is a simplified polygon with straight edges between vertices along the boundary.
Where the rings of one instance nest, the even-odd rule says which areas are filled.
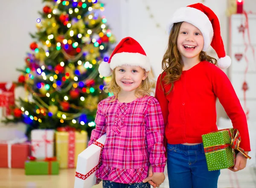
[[[31,131],[31,152],[36,158],[53,157],[55,130],[35,129]]]

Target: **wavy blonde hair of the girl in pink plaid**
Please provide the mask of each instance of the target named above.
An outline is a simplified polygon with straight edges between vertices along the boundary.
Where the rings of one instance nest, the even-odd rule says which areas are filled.
[[[111,101],[115,101],[118,93],[121,91],[120,87],[116,84],[115,70],[116,70],[116,68],[113,69],[111,81],[108,82],[108,84],[106,84],[104,87],[104,90],[107,89],[108,92],[113,93],[114,97],[113,97],[113,99],[111,99]],[[145,69],[144,69],[144,71],[145,71]],[[150,95],[150,93],[151,93],[151,84],[150,84],[149,78],[147,76],[147,78],[141,82],[140,86],[136,88],[135,96],[137,98],[140,98],[145,95]]]

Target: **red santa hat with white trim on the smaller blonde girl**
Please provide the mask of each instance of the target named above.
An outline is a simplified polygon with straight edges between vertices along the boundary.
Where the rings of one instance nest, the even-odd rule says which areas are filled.
[[[150,71],[149,58],[140,44],[131,37],[123,38],[113,50],[108,62],[99,65],[99,74],[110,76],[114,68],[122,65],[138,66]]]

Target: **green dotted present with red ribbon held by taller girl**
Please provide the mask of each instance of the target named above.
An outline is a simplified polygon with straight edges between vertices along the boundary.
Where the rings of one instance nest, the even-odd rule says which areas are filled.
[[[241,137],[237,129],[222,129],[202,135],[204,153],[208,171],[230,168],[235,165],[236,152],[241,152],[250,159],[242,148],[239,148]],[[235,152],[236,150],[236,152]]]

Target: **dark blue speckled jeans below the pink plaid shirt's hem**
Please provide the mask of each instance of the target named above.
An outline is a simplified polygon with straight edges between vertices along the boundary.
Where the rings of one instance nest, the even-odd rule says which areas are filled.
[[[102,180],[102,185],[103,185],[103,188],[150,188],[150,184],[148,182],[125,184],[125,183],[111,182],[108,180]]]

